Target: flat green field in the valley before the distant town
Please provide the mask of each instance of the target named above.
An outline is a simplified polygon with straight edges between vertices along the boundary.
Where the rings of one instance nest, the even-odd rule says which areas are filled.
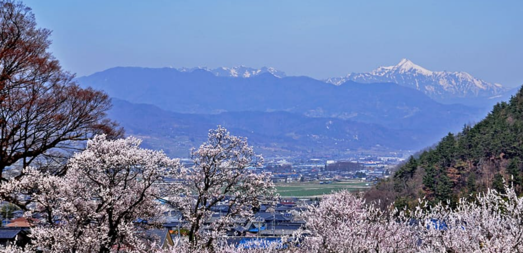
[[[276,190],[282,197],[321,197],[323,194],[342,189],[349,191],[364,191],[369,189],[372,184],[369,183],[369,186],[365,186],[366,183],[369,182],[344,181],[324,185],[320,185],[319,181],[276,183]]]

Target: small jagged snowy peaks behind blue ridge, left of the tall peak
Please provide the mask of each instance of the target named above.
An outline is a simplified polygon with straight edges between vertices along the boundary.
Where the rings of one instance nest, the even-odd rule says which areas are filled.
[[[276,77],[286,77],[285,72],[276,70],[274,67],[262,67],[262,68],[252,68],[246,66],[236,66],[236,67],[219,67],[219,68],[208,68],[208,67],[193,67],[193,68],[178,68],[180,72],[193,72],[195,70],[204,70],[211,72],[215,76],[226,76],[226,77],[253,77],[265,73],[269,73]]]

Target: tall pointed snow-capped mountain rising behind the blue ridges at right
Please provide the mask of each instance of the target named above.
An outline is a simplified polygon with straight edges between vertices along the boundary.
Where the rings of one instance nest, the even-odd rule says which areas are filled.
[[[351,73],[326,80],[334,85],[347,81],[396,83],[420,90],[441,102],[456,101],[456,98],[493,98],[507,90],[501,84],[485,82],[466,72],[429,71],[407,59],[402,59],[394,66],[379,67],[369,73]]]

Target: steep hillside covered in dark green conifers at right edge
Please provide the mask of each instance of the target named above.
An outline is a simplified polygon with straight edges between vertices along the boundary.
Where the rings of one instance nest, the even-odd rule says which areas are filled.
[[[497,103],[474,126],[449,133],[431,149],[411,157],[394,176],[367,193],[412,206],[418,198],[456,202],[461,197],[494,188],[503,180],[522,193],[523,88],[510,101]]]

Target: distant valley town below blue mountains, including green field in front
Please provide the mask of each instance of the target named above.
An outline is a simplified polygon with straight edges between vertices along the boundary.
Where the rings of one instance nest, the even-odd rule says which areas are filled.
[[[386,155],[360,154],[351,157],[310,158],[276,156],[264,158],[264,166],[252,168],[258,173],[270,172],[277,193],[282,197],[316,198],[332,191],[362,191],[393,174],[394,168],[411,152]],[[181,159],[191,167],[190,159]]]

